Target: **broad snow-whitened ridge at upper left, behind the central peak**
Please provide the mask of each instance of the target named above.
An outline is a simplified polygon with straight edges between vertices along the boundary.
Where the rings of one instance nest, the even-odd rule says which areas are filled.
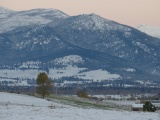
[[[33,9],[29,11],[11,11],[0,8],[0,33],[14,30],[17,27],[44,25],[57,22],[68,15],[56,9]]]

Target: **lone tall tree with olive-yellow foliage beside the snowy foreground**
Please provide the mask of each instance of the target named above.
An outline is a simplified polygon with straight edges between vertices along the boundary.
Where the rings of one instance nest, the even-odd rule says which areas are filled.
[[[45,72],[39,73],[37,79],[36,92],[44,98],[46,95],[50,94],[50,89],[52,88],[52,82],[49,80],[48,75]]]

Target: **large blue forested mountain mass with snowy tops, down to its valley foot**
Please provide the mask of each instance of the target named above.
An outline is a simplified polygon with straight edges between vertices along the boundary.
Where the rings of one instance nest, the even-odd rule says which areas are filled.
[[[21,73],[19,70],[34,69],[30,79],[40,71],[56,76],[53,79],[160,78],[160,40],[135,28],[95,14],[68,16],[54,9],[5,15],[0,18],[3,70]],[[6,73],[10,72],[4,71],[0,77],[13,75]],[[13,79],[21,77],[27,79],[22,74]]]

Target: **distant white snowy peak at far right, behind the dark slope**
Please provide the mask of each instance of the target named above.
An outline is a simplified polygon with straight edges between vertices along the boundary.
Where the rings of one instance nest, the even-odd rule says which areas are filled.
[[[160,27],[139,25],[136,28],[150,36],[160,38]]]

